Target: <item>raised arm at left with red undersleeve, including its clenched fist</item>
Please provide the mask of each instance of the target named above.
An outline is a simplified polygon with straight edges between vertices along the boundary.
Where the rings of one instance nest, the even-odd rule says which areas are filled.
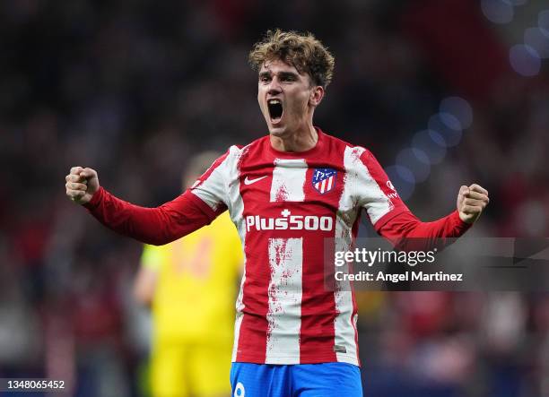
[[[168,244],[211,223],[226,209],[213,211],[188,190],[160,207],[140,207],[109,194],[100,186],[92,168],[71,168],[65,180],[66,195],[86,207],[103,225],[155,246]]]

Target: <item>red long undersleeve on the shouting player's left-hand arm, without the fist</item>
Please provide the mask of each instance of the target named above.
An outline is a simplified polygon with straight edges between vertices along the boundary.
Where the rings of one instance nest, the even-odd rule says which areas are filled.
[[[140,207],[120,200],[102,187],[85,207],[103,225],[146,244],[161,246],[209,224],[215,213],[186,192],[157,208]],[[209,210],[209,211],[208,211]]]

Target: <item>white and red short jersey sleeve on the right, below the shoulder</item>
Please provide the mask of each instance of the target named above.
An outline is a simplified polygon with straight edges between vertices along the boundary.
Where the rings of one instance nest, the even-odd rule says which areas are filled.
[[[399,213],[409,211],[370,151],[362,152],[358,164],[358,200],[376,229]]]

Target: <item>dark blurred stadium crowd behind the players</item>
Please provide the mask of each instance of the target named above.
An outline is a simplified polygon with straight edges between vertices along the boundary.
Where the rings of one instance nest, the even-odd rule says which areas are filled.
[[[266,134],[246,58],[268,28],[310,30],[330,47],[335,78],[316,125],[370,148],[420,218],[452,211],[459,186],[476,181],[491,204],[470,235],[546,237],[544,10],[541,0],[2,2],[0,377],[140,395],[148,329],[130,289],[141,246],[70,203],[65,174],[90,166],[118,196],[156,205],[179,194],[189,154]],[[366,395],[549,395],[547,294],[359,298]]]

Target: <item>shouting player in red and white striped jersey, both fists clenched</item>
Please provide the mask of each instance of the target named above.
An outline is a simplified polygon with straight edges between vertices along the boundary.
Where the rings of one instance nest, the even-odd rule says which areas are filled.
[[[461,186],[457,211],[422,222],[370,151],[313,126],[334,57],[311,34],[267,32],[249,54],[269,134],[232,146],[178,198],[157,208],[126,203],[74,167],[66,194],[126,236],[166,244],[229,210],[244,246],[231,384],[234,396],[362,396],[356,305],[324,288],[324,240],[353,242],[364,209],[378,233],[459,237],[488,203]]]

